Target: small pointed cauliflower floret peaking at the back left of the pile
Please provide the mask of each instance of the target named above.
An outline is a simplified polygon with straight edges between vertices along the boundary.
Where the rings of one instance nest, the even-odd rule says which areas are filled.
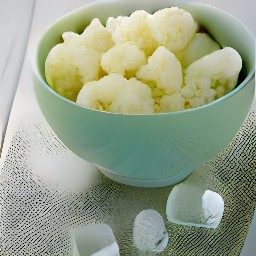
[[[98,18],[94,18],[80,35],[87,48],[104,53],[114,46],[111,33],[101,24]]]

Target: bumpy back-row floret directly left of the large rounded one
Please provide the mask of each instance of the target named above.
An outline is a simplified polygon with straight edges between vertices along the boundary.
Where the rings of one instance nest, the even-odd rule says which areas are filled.
[[[106,28],[116,43],[132,42],[150,56],[157,48],[150,28],[151,14],[143,10],[133,12],[129,17],[110,17]]]

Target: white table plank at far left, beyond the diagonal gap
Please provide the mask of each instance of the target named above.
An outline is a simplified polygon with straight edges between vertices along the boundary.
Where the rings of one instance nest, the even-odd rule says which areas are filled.
[[[0,149],[19,81],[34,0],[0,0]]]

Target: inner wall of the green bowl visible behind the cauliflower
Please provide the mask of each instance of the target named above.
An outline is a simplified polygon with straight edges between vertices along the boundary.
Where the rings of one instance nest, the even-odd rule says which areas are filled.
[[[147,4],[145,4],[147,3]],[[105,24],[108,17],[129,15],[138,9],[144,9],[149,13],[165,7],[178,6],[190,12],[194,19],[204,26],[211,36],[223,47],[230,46],[236,49],[243,59],[243,69],[240,82],[247,76],[252,76],[255,69],[255,39],[239,20],[230,14],[212,6],[199,3],[184,3],[180,1],[103,1],[79,8],[55,21],[45,32],[39,42],[36,67],[39,75],[45,81],[44,62],[57,43],[62,42],[61,35],[66,31],[82,33],[90,21],[97,17]],[[249,77],[248,77],[249,79]]]

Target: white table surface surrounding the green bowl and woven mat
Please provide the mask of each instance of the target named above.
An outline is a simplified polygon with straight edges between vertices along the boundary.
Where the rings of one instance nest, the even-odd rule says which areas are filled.
[[[21,122],[29,120],[43,120],[33,93],[30,72],[30,63],[36,40],[54,19],[88,2],[92,1],[0,0],[0,32],[2,32],[2,36],[5,35],[4,37],[1,36],[1,38],[5,38],[4,43],[2,39],[0,40],[0,144],[2,132],[4,135],[7,127],[0,167],[17,126]],[[254,0],[202,0],[201,2],[215,5],[233,13],[256,35],[256,19],[254,18],[256,2]],[[28,44],[27,35],[29,35]],[[25,54],[26,45],[27,52]],[[23,58],[24,55],[25,58]],[[253,252],[256,252],[255,239],[256,217],[241,255],[251,256]]]

